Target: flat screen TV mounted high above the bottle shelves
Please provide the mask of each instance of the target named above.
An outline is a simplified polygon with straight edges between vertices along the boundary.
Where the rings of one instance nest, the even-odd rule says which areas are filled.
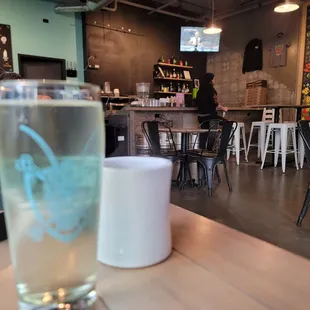
[[[218,52],[221,33],[206,34],[204,27],[181,27],[181,52]]]

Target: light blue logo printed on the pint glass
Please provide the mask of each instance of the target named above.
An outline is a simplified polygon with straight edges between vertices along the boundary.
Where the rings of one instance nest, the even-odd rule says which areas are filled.
[[[96,225],[99,202],[101,156],[89,156],[93,136],[78,156],[57,160],[50,146],[33,129],[19,126],[41,148],[50,165],[38,167],[30,154],[21,154],[15,168],[23,173],[26,197],[36,223],[29,231],[34,241],[49,234],[61,242],[72,242],[84,229]]]

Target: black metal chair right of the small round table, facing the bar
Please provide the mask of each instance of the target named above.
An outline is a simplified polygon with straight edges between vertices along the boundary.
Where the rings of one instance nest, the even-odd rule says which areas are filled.
[[[204,143],[204,146],[201,150],[190,152],[189,161],[197,161],[198,171],[200,171],[199,185],[202,186],[204,184],[207,184],[208,195],[212,196],[212,183],[214,172],[216,173],[220,182],[220,177],[217,170],[217,165],[219,164],[222,164],[224,166],[226,182],[229,191],[232,191],[232,186],[229,181],[226,166],[226,154],[227,146],[235,133],[237,123],[233,121],[222,120],[210,120],[207,122],[209,122],[209,128],[207,135],[205,135],[206,141]],[[203,178],[200,178],[201,172],[203,174]]]

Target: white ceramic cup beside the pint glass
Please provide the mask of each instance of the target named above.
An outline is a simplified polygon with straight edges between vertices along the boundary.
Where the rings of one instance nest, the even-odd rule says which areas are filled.
[[[171,253],[172,163],[156,157],[107,158],[103,167],[98,260],[140,268]]]

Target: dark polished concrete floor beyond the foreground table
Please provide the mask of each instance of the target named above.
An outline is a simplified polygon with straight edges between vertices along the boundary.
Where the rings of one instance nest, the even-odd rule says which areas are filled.
[[[310,258],[310,210],[302,226],[296,220],[310,180],[310,170],[288,167],[260,170],[254,163],[229,163],[233,192],[223,171],[221,184],[214,180],[213,196],[206,189],[172,188],[171,202],[216,222]]]

